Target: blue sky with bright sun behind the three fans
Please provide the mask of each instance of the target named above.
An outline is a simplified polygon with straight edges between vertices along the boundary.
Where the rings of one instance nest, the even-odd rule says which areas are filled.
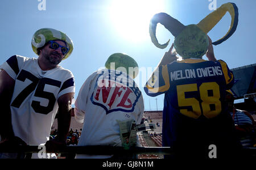
[[[116,52],[133,57],[149,76],[159,63],[166,49],[156,48],[148,34],[152,15],[167,13],[184,25],[197,24],[212,11],[209,0],[44,0],[45,10],[39,10],[40,0],[1,0],[0,4],[0,64],[10,56],[37,57],[31,48],[32,35],[39,28],[55,28],[65,32],[74,43],[72,55],[61,62],[75,76],[76,94],[86,78]],[[43,0],[41,0],[43,1]],[[212,0],[214,1],[214,0]],[[256,19],[254,0],[215,0],[217,7],[223,3],[236,3],[239,20],[236,32],[224,43],[214,46],[217,59],[228,63],[229,68],[256,63]],[[222,38],[230,26],[230,15],[214,27],[209,36],[213,42]],[[157,37],[161,44],[174,37],[163,26],[158,26]],[[203,56],[203,59],[207,59]],[[148,97],[143,86],[148,77],[141,76],[137,84],[142,90],[145,110],[163,109],[164,96]]]

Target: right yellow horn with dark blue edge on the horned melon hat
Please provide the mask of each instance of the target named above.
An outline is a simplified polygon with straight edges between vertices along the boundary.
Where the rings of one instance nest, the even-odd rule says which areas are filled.
[[[232,34],[234,34],[234,31],[237,29],[237,23],[238,23],[238,8],[235,3],[224,3],[219,7],[217,10],[210,13],[208,16],[206,16],[203,20],[201,20],[197,26],[201,28],[207,34],[216,24],[221,20],[221,18],[226,14],[226,12],[229,12],[231,15],[231,24],[229,27],[229,31],[226,33],[224,37],[217,40],[216,42],[213,42],[213,45],[218,45],[225,40],[227,40]]]

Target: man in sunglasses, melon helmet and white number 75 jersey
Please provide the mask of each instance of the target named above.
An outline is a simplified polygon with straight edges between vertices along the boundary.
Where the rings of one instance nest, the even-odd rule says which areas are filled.
[[[42,28],[31,45],[38,59],[14,55],[0,66],[1,145],[46,143],[59,110],[57,138],[46,143],[47,150],[52,150],[65,145],[71,121],[75,80],[71,71],[58,64],[72,53],[73,43],[61,31]]]

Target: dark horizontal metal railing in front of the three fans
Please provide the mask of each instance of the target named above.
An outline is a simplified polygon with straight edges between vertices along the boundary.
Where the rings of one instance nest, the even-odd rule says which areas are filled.
[[[31,154],[42,151],[42,146],[5,146],[0,147],[0,152]],[[88,154],[88,155],[172,155],[170,147],[117,147],[117,146],[65,146],[56,151],[47,153],[59,154]],[[246,147],[242,154],[256,157],[256,148]]]

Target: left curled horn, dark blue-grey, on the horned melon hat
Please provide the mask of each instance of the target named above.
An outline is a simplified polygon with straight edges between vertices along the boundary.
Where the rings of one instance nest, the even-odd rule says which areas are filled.
[[[149,32],[152,43],[154,43],[156,47],[161,49],[167,47],[170,39],[165,44],[158,43],[158,39],[156,39],[156,25],[158,23],[161,23],[164,27],[166,27],[167,30],[169,30],[174,36],[179,35],[179,33],[185,28],[185,26],[180,23],[179,20],[172,18],[166,13],[155,14],[150,20]]]

